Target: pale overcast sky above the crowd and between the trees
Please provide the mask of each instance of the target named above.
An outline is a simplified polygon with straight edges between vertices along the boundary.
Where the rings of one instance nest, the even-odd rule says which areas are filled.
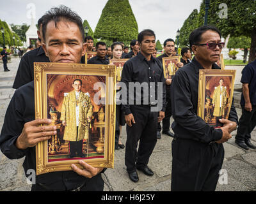
[[[1,0],[0,19],[8,24],[29,24],[31,11],[34,11],[36,21],[45,11],[53,6],[64,4],[76,11],[84,20],[88,20],[93,31],[99,21],[101,12],[108,0]],[[202,0],[129,0],[134,16],[137,20],[139,32],[152,29],[156,39],[163,41],[167,38],[175,39],[177,29],[189,14],[199,11]],[[33,6],[35,5],[35,6]],[[28,8],[27,8],[28,7]]]

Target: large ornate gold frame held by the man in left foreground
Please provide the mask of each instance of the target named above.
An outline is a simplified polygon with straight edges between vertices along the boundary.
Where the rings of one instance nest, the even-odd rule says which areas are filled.
[[[106,77],[106,105],[105,105],[105,138],[104,158],[86,159],[86,163],[94,167],[114,168],[115,152],[115,85],[116,67],[100,64],[63,64],[51,62],[34,62],[35,77],[35,118],[47,118],[47,74],[59,75],[96,75]],[[36,175],[52,171],[72,170],[71,164],[78,164],[77,160],[48,162],[47,141],[36,145]]]

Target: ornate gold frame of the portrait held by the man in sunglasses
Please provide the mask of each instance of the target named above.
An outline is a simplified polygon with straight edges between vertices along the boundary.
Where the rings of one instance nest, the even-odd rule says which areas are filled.
[[[197,115],[204,120],[205,115],[205,77],[232,77],[230,85],[230,98],[233,98],[234,94],[234,84],[236,77],[236,70],[227,70],[227,69],[200,69],[199,71],[199,80],[198,80],[198,106],[197,106]],[[230,113],[230,108],[232,105],[232,100],[228,106],[228,113]]]

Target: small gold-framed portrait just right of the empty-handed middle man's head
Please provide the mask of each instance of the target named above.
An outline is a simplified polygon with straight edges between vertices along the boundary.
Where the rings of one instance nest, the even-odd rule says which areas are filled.
[[[164,78],[172,78],[179,67],[177,63],[180,62],[180,56],[163,57]]]

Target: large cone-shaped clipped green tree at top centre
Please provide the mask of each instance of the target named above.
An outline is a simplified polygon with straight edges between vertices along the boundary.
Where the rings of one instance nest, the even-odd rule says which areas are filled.
[[[94,37],[131,41],[138,36],[138,24],[128,0],[108,0],[95,28]]]

